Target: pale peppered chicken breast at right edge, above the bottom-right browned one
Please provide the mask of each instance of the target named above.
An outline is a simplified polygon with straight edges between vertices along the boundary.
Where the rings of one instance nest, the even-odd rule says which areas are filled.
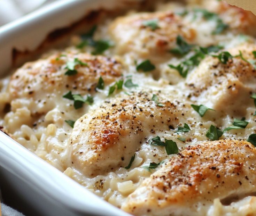
[[[249,98],[256,91],[255,50],[255,44],[246,43],[227,50],[233,57],[223,53],[224,50],[222,61],[212,56],[202,60],[187,77],[192,100],[212,107],[218,115],[219,112],[244,115],[246,107],[253,105]]]

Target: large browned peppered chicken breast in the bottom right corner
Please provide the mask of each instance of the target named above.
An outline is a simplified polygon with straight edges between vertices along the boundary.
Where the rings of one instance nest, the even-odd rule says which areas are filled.
[[[122,209],[136,216],[221,215],[210,210],[214,202],[230,205],[234,198],[255,194],[255,161],[256,149],[246,141],[188,146],[130,194]],[[255,208],[248,205],[236,211],[254,215]]]

